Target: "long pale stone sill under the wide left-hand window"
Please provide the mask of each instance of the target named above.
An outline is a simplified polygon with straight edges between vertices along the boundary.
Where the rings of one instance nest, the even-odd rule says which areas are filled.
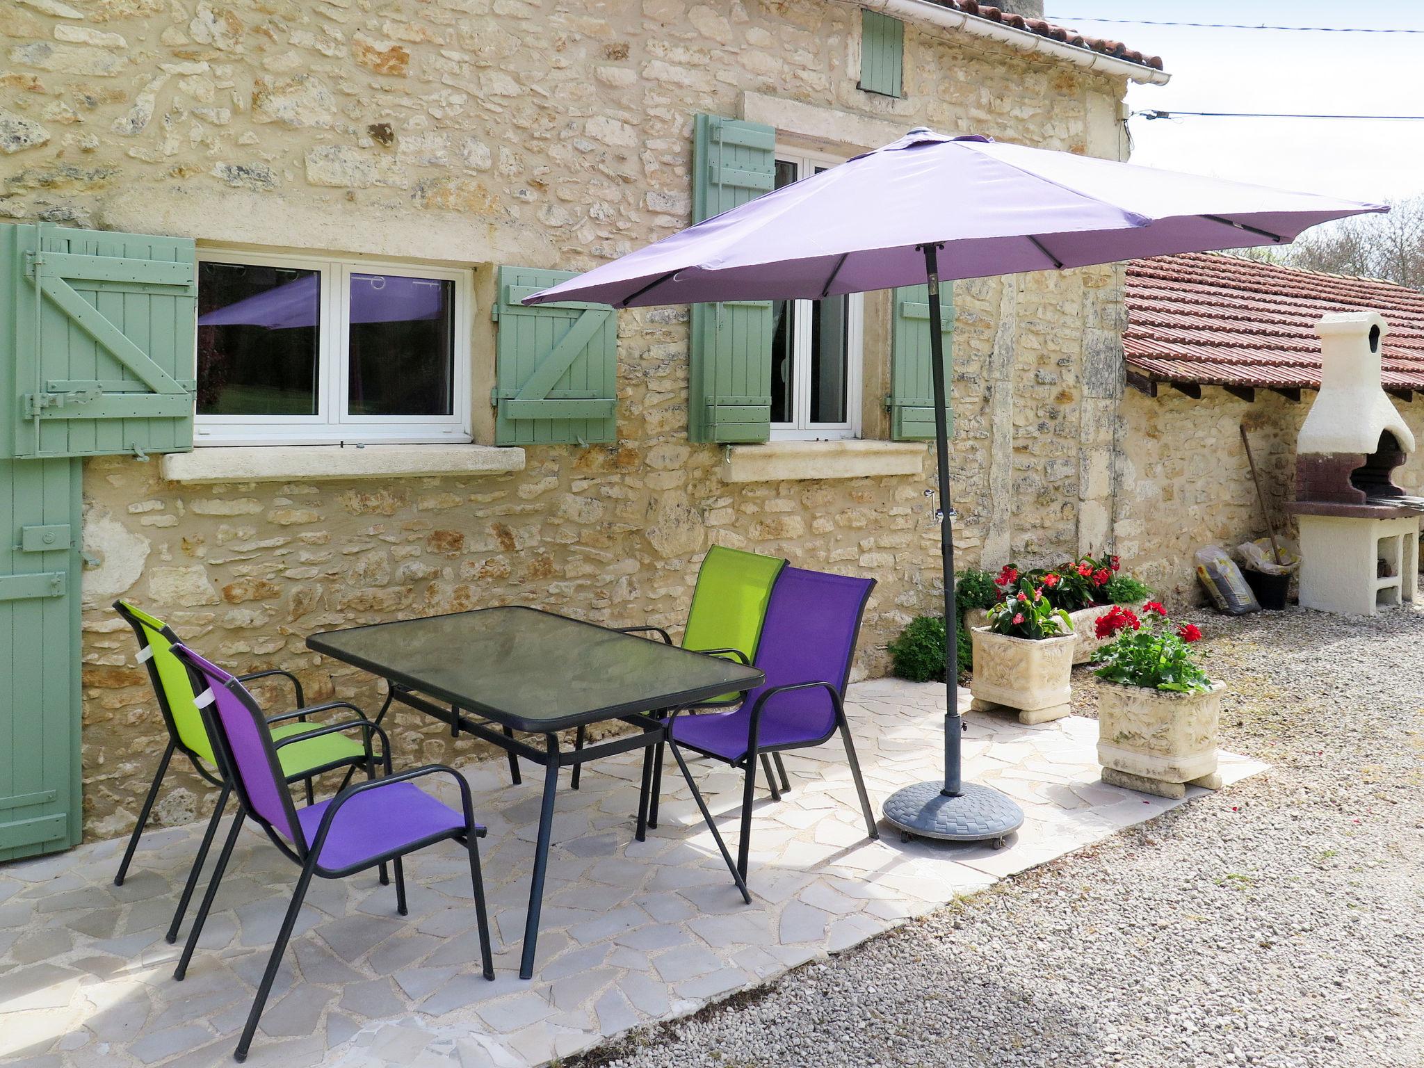
[[[206,446],[168,453],[162,477],[189,484],[504,474],[524,470],[523,449],[478,444]]]

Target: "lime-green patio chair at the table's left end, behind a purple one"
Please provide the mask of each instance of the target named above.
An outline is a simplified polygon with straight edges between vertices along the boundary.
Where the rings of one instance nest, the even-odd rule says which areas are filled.
[[[218,830],[218,822],[222,819],[222,810],[228,803],[228,795],[232,792],[229,783],[222,779],[218,770],[218,762],[212,752],[212,742],[208,738],[208,729],[202,723],[202,713],[194,703],[194,695],[199,691],[194,689],[192,676],[172,652],[172,646],[179,641],[174,629],[165,624],[162,619],[150,615],[141,608],[135,608],[127,601],[114,601],[114,611],[118,612],[130,627],[134,628],[134,635],[138,638],[138,659],[148,668],[148,681],[152,684],[154,696],[158,701],[158,711],[162,713],[164,725],[168,728],[168,748],[164,749],[164,755],[158,759],[158,772],[154,775],[154,783],[148,787],[148,796],[144,799],[144,807],[138,813],[138,823],[134,826],[134,833],[128,837],[128,847],[124,850],[124,859],[118,866],[118,874],[114,876],[114,886],[124,884],[124,876],[128,873],[128,866],[134,859],[134,850],[138,847],[138,839],[144,833],[144,826],[148,823],[148,816],[152,812],[154,802],[158,799],[158,789],[162,786],[164,776],[168,773],[168,763],[172,760],[175,752],[181,752],[188,758],[194,770],[202,776],[202,779],[212,786],[222,790],[218,795],[218,803],[212,810],[212,819],[208,820],[208,830],[204,834],[202,844],[198,846],[198,856],[194,859],[192,870],[188,873],[188,881],[184,886],[182,896],[178,899],[178,909],[174,911],[172,924],[168,928],[168,941],[177,941],[178,928],[182,924],[184,913],[188,910],[188,901],[192,897],[194,887],[198,883],[198,873],[202,870],[204,860],[208,857],[208,849],[212,846],[212,837]],[[345,701],[330,701],[323,705],[308,705],[306,696],[302,692],[302,684],[289,671],[272,669],[272,671],[256,671],[251,675],[242,675],[242,682],[251,682],[253,679],[282,676],[292,684],[292,689],[296,696],[296,708],[300,715],[298,722],[282,722],[273,723],[272,738],[282,739],[289,735],[298,735],[303,731],[312,729],[312,725],[305,722],[306,716],[312,712],[323,712],[333,708],[352,709],[365,719],[365,713]],[[281,719],[290,719],[288,716],[281,716]],[[292,745],[283,746],[281,750],[282,773],[286,776],[289,783],[303,782],[306,785],[306,803],[310,805],[315,799],[315,792],[312,789],[312,778],[320,775],[322,772],[329,772],[336,768],[350,768],[355,769],[362,766],[366,769],[366,778],[372,778],[376,773],[375,762],[367,760],[366,746],[352,738],[343,738],[340,735],[323,735],[320,738],[312,738],[303,742],[293,742]],[[387,881],[387,874],[384,866],[380,870],[382,883]]]

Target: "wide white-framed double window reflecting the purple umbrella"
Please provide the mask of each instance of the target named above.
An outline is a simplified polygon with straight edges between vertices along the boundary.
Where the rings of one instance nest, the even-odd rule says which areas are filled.
[[[199,444],[470,440],[468,271],[198,253]]]

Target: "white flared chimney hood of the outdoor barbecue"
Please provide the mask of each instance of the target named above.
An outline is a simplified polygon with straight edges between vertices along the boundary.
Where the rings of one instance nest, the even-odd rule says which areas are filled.
[[[1380,349],[1390,325],[1378,312],[1331,312],[1320,335],[1320,394],[1310,406],[1297,453],[1374,453],[1388,430],[1405,453],[1414,434],[1380,384]]]

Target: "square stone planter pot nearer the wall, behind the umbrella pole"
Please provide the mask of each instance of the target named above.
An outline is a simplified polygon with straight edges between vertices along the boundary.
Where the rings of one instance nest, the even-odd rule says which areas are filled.
[[[1010,638],[987,627],[970,631],[974,676],[970,705],[975,712],[1012,709],[1020,723],[1047,723],[1071,711],[1075,638]]]

